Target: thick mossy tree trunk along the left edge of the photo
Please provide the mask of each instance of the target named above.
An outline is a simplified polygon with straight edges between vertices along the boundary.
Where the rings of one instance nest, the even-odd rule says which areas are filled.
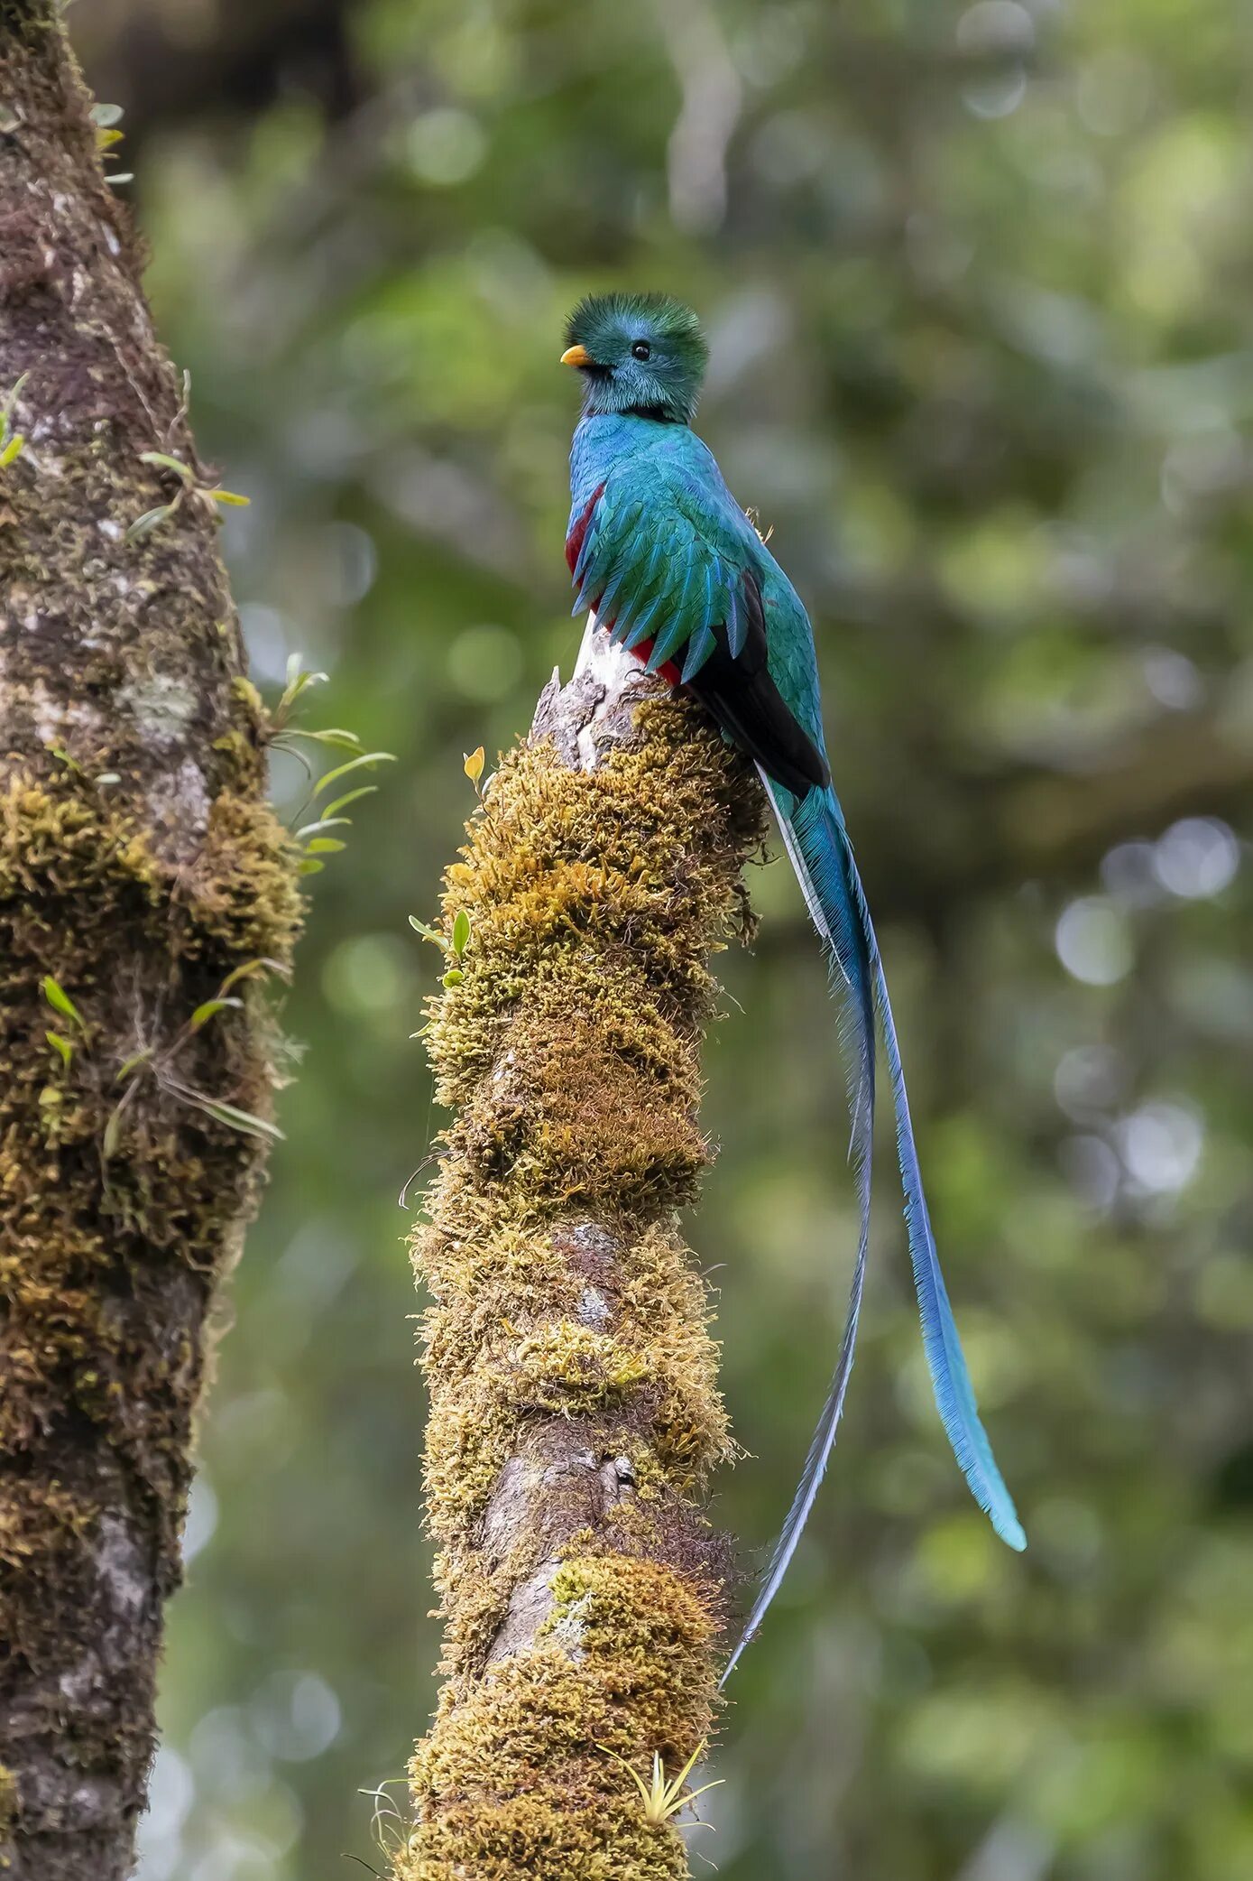
[[[130,1872],[293,861],[60,9],[0,0],[0,1872]],[[177,457],[186,472],[145,461]],[[156,527],[135,521],[178,498]],[[218,1117],[229,1115],[218,1110]]]

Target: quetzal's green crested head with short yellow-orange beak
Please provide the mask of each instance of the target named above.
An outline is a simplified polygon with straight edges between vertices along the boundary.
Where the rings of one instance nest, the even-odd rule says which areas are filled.
[[[584,376],[584,412],[641,412],[686,425],[708,346],[701,322],[669,293],[590,293],[565,322],[562,365]]]

